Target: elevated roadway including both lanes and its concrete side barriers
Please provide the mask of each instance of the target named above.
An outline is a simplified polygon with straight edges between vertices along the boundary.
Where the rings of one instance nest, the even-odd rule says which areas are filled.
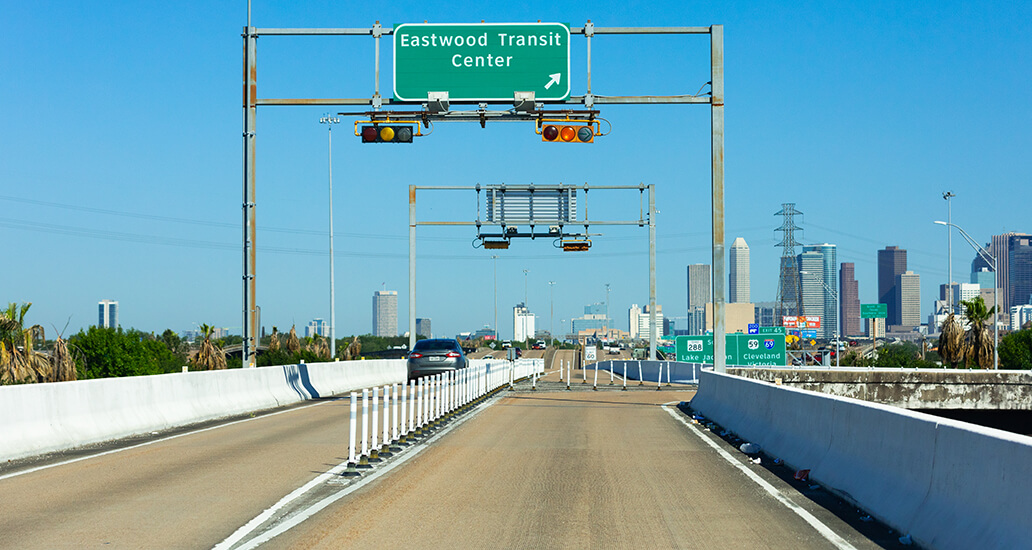
[[[1030,438],[711,371],[623,391],[618,361],[595,385],[608,373],[573,351],[555,354],[561,381],[541,359],[473,364],[408,394],[389,391],[396,360],[0,388],[0,547],[1002,548],[1030,532]],[[385,387],[350,422],[352,392]],[[407,420],[423,433],[400,444]],[[133,435],[106,441],[116,424]],[[389,456],[347,477],[356,432],[365,458]]]

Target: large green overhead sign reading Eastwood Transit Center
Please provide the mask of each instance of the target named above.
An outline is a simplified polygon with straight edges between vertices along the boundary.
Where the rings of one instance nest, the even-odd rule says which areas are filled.
[[[394,28],[394,99],[512,101],[570,97],[570,27],[561,23],[411,24]]]

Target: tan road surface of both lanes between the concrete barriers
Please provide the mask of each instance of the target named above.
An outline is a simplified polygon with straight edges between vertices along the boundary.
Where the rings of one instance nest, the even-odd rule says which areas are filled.
[[[501,397],[267,546],[834,547],[660,407],[690,391],[580,389]],[[346,414],[324,401],[0,476],[0,547],[212,547],[344,461]],[[825,528],[877,547],[753,470]]]

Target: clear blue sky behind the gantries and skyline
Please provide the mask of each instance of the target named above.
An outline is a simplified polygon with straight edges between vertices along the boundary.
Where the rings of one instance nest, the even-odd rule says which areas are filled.
[[[0,300],[74,332],[102,298],[125,327],[238,331],[241,308],[241,38],[246,2],[25,2],[0,8]],[[724,26],[727,245],[751,249],[752,299],[773,300],[774,213],[795,202],[801,241],[832,242],[876,301],[876,251],[908,250],[923,317],[946,279],[941,193],[980,241],[1032,231],[1032,6],[1024,2],[256,1],[256,27],[545,22]],[[381,87],[390,90],[390,41]],[[599,36],[592,92],[688,94],[709,79],[706,36]],[[572,43],[584,93],[584,38]],[[373,39],[262,37],[260,97],[369,97]],[[258,303],[286,329],[329,317],[325,107],[258,112]],[[439,124],[412,145],[362,145],[334,131],[337,333],[370,329],[372,294],[399,291],[407,319],[408,186],[655,184],[658,302],[683,316],[685,266],[710,262],[709,107],[603,105],[610,135],[540,142],[529,123]],[[427,195],[423,219],[476,217],[472,193]],[[421,198],[422,200],[422,198]],[[591,198],[636,218],[637,197]],[[425,207],[424,207],[425,206]],[[425,217],[424,217],[425,214]],[[647,230],[604,228],[586,254],[518,242],[497,266],[498,325],[524,283],[538,324],[604,301],[626,328],[648,301]],[[452,335],[492,324],[490,253],[464,228],[421,228],[417,315]],[[955,235],[954,279],[973,251]],[[523,270],[528,273],[524,276]],[[404,322],[401,323],[405,324]],[[404,328],[401,328],[404,330]]]

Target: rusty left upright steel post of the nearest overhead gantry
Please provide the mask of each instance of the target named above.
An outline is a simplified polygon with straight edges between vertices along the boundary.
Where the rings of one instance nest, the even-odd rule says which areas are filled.
[[[244,326],[243,363],[255,365],[258,351],[258,309],[255,300],[255,116],[258,111],[258,35],[251,26],[244,29]]]

